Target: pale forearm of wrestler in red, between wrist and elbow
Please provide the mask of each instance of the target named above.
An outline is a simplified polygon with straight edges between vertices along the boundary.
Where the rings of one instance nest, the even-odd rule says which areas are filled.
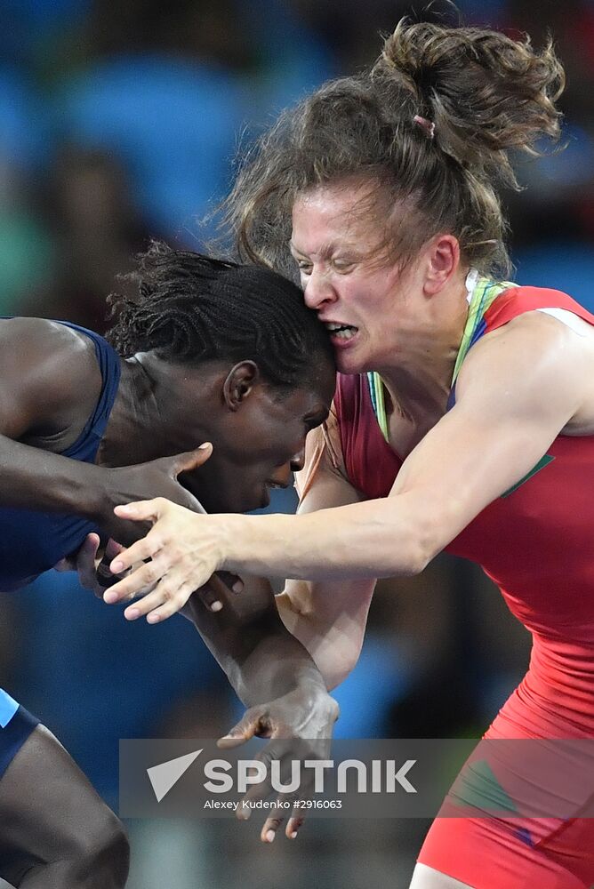
[[[298,516],[221,516],[221,568],[275,571],[295,580],[339,581],[412,575],[435,555],[430,504],[405,496]],[[423,513],[426,511],[428,521]]]

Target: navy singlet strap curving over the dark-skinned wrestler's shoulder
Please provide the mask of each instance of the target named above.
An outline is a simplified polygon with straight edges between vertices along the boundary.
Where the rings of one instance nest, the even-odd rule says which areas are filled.
[[[95,347],[95,355],[101,373],[101,391],[100,396],[95,405],[89,419],[84,424],[84,429],[76,439],[74,445],[70,445],[67,451],[63,452],[63,456],[71,457],[76,460],[92,460],[94,459],[100,440],[108,425],[109,414],[116,400],[117,387],[120,381],[120,357],[115,348],[109,345],[99,333],[87,330],[79,324],[71,324],[68,321],[58,321],[57,324],[63,324],[64,327],[70,327],[72,330],[84,333],[84,336],[92,340]]]

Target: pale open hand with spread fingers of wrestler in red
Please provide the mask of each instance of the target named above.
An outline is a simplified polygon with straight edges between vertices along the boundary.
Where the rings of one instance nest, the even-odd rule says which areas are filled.
[[[129,621],[143,614],[149,623],[164,621],[179,612],[194,590],[204,586],[220,567],[216,556],[221,549],[215,531],[217,517],[194,515],[161,497],[116,507],[116,515],[134,521],[148,519],[154,525],[143,540],[116,557],[109,566],[111,571],[121,573],[134,563],[151,561],[116,583],[103,598],[113,605],[150,587],[151,591],[130,605],[124,615]],[[236,580],[232,589],[241,589],[241,581]]]

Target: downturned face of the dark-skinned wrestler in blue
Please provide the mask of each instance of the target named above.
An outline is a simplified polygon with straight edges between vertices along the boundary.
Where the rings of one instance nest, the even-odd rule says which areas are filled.
[[[207,512],[247,512],[268,506],[270,488],[288,487],[303,465],[305,437],[328,415],[333,368],[312,388],[288,394],[259,384],[229,425],[213,436],[213,454],[197,471],[197,495]]]

